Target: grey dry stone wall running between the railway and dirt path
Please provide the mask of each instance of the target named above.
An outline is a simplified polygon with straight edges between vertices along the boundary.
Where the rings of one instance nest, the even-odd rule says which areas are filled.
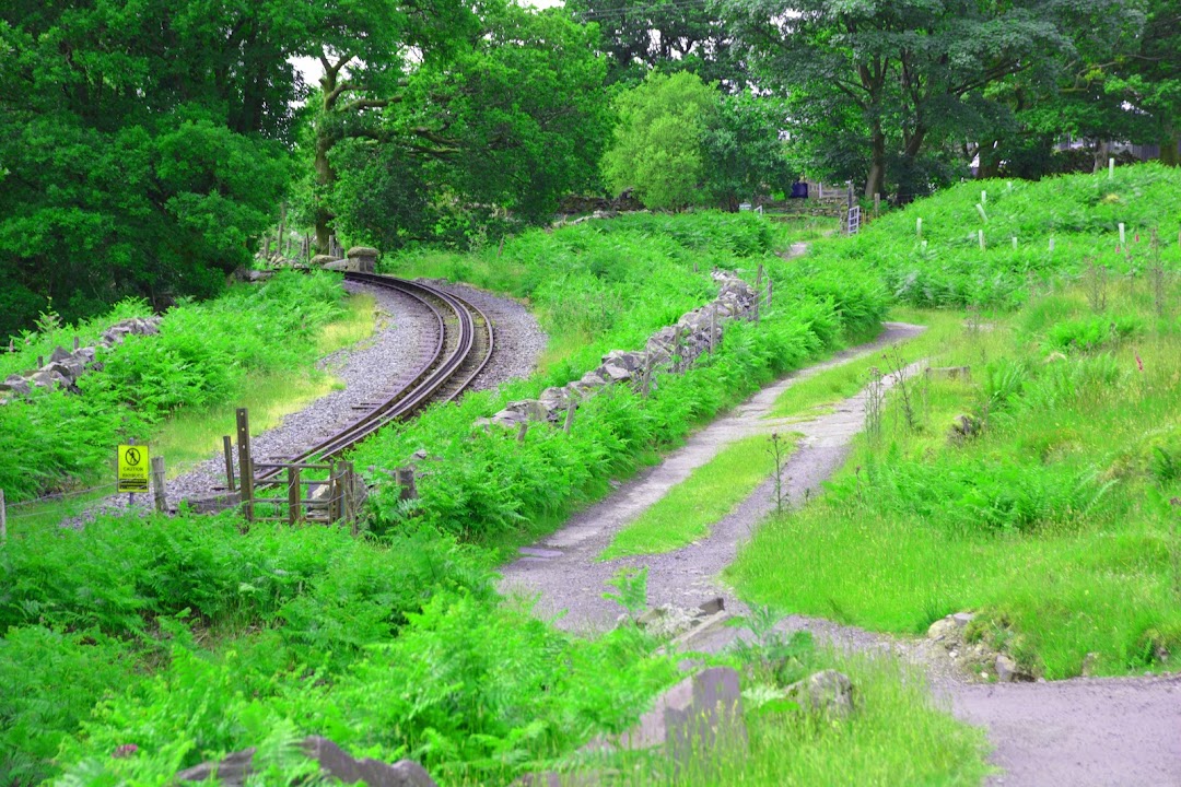
[[[607,386],[647,386],[657,370],[689,368],[720,341],[726,322],[752,315],[761,297],[755,287],[729,271],[713,271],[713,280],[720,283],[718,297],[654,333],[644,349],[612,350],[581,379],[560,388],[546,388],[540,399],[511,401],[483,424],[515,426],[527,421],[560,421],[568,409]]]

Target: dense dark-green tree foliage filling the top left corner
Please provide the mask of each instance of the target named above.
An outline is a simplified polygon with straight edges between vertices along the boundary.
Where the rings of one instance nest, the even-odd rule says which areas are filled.
[[[209,294],[288,177],[289,0],[0,8],[0,333]]]

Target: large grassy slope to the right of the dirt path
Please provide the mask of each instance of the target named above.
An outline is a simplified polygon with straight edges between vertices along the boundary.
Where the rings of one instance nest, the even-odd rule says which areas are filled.
[[[1105,309],[1058,293],[961,329],[935,362],[972,381],[914,380],[913,426],[892,395],[881,435],[814,505],[761,527],[730,579],[880,630],[977,610],[977,636],[1051,678],[1088,654],[1101,674],[1175,664],[1181,335],[1143,293]]]

